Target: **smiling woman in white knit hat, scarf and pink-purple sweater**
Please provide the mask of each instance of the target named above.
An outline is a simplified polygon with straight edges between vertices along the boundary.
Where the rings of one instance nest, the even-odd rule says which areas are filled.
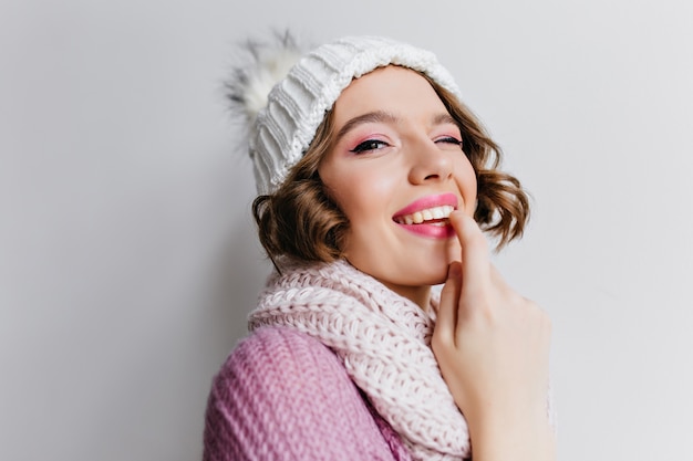
[[[348,38],[256,104],[285,57],[255,55],[229,88],[277,271],[213,384],[205,459],[555,459],[550,324],[483,233],[521,235],[527,198],[447,71]]]

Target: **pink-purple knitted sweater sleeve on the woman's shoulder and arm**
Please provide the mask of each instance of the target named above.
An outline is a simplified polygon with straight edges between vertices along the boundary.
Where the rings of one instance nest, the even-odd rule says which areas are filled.
[[[238,345],[214,379],[203,458],[408,459],[376,419],[330,349],[293,329],[265,327]]]

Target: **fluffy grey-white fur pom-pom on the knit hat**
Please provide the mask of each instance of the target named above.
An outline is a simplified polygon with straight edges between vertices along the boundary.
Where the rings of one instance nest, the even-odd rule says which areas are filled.
[[[248,41],[240,48],[246,56],[231,70],[226,95],[234,115],[245,117],[250,128],[267,107],[270,91],[289,74],[302,53],[288,31],[276,33],[271,43]]]

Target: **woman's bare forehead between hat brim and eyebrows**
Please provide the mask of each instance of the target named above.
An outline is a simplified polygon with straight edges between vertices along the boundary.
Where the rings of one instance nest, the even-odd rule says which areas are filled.
[[[334,103],[334,124],[340,126],[375,111],[426,118],[447,112],[426,78],[411,69],[394,65],[354,78]]]

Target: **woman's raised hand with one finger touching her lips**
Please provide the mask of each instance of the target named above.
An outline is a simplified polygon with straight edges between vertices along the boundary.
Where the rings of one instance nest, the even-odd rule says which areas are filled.
[[[547,416],[550,321],[489,261],[486,238],[462,212],[462,245],[441,293],[432,347],[469,426],[474,459],[554,459]]]

